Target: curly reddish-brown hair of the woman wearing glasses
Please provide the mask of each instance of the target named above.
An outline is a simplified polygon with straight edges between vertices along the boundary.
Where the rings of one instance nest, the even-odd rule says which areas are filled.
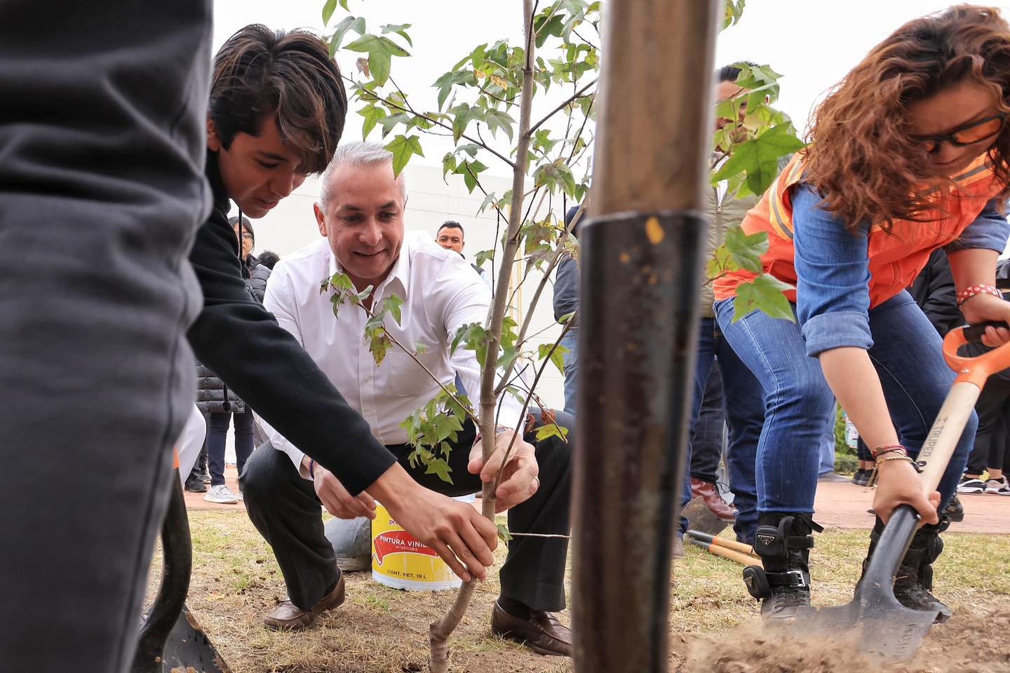
[[[908,109],[972,77],[1010,112],[1010,26],[998,9],[956,5],[909,21],[871,50],[818,106],[808,131],[804,182],[853,233],[861,223],[890,231],[935,209],[924,185],[937,182],[912,137]],[[988,150],[1002,202],[1010,196],[1010,125]],[[937,189],[948,190],[949,184]]]

